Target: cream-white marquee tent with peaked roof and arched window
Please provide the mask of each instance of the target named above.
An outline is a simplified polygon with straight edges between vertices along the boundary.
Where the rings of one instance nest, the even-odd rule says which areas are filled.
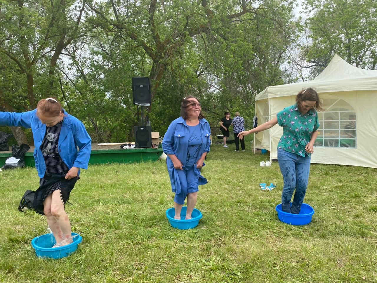
[[[269,86],[255,97],[258,125],[295,103],[296,94],[314,88],[324,105],[311,163],[377,168],[377,70],[359,69],[335,55],[314,80]],[[277,159],[279,125],[254,136],[255,148]]]

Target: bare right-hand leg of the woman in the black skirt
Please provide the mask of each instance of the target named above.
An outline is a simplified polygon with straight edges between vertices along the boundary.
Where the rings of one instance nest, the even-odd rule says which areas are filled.
[[[56,190],[52,193],[51,214],[55,218],[57,225],[60,227],[63,234],[61,246],[72,243],[70,222],[68,215],[64,211],[64,203],[61,199],[60,190]]]

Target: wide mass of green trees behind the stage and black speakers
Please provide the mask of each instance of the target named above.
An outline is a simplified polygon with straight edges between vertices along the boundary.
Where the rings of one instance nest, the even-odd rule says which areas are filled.
[[[280,66],[296,34],[291,1],[258,5],[4,2],[0,62],[17,82],[6,91],[5,102],[25,111],[56,95],[85,123],[94,142],[127,141],[133,139],[137,116],[131,77],[147,76],[153,131],[166,131],[187,95],[201,100],[213,125],[224,111],[239,111],[250,123],[255,95],[283,82]]]

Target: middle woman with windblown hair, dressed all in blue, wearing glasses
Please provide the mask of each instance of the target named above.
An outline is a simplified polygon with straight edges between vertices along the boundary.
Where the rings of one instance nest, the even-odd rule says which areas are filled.
[[[210,150],[211,129],[201,113],[201,104],[193,96],[182,99],[181,117],[175,119],[162,140],[167,154],[167,169],[172,191],[175,192],[175,219],[181,219],[181,210],[187,197],[185,219],[191,219],[198,197],[198,186],[207,184],[200,170]]]

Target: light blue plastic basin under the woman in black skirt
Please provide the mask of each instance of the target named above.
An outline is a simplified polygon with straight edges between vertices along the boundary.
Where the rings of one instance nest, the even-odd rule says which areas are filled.
[[[69,245],[52,248],[56,244],[53,234],[44,234],[38,237],[35,237],[31,240],[31,245],[35,249],[35,254],[37,257],[48,257],[48,258],[62,258],[66,257],[72,252],[77,250],[78,244],[81,243],[83,237],[77,233],[72,233],[73,242]]]

